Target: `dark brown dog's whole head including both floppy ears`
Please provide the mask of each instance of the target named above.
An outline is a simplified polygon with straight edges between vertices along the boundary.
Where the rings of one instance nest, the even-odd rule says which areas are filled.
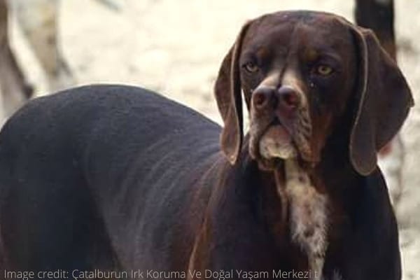
[[[372,31],[310,11],[247,22],[223,60],[215,93],[225,123],[221,147],[232,164],[242,143],[241,92],[250,112],[249,153],[260,166],[288,158],[316,164],[351,111],[349,158],[364,175],[413,104]]]

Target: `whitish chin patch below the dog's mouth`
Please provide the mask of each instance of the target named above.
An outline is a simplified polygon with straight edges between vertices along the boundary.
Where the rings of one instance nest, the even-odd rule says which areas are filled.
[[[281,125],[270,127],[260,139],[260,155],[262,158],[295,158],[296,149],[292,144],[290,135]]]

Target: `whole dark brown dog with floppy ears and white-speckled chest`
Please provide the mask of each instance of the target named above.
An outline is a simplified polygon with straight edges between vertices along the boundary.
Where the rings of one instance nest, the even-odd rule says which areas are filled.
[[[15,113],[0,133],[4,275],[400,279],[377,151],[413,99],[372,31],[328,13],[262,15],[214,91],[223,129],[123,85]]]

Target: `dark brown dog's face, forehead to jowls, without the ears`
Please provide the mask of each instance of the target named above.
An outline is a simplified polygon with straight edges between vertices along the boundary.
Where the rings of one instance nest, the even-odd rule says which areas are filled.
[[[325,17],[268,17],[248,28],[239,66],[251,156],[317,162],[355,82],[349,30]]]

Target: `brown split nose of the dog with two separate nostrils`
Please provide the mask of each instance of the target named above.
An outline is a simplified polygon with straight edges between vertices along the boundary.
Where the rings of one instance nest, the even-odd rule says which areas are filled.
[[[276,89],[275,87],[262,86],[253,92],[252,103],[257,110],[279,106],[280,110],[292,113],[299,106],[299,96],[292,87],[281,86]]]

